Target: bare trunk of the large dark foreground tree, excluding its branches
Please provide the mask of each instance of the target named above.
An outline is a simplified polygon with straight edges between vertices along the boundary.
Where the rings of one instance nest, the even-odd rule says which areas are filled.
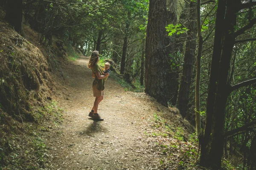
[[[223,39],[223,43],[220,49],[213,49],[213,56],[212,56],[212,66],[211,69],[217,68],[218,75],[212,75],[211,70],[211,78],[210,78],[210,88],[211,86],[215,87],[215,92],[210,92],[208,94],[208,101],[207,101],[207,114],[209,112],[212,115],[212,121],[207,120],[206,127],[210,129],[205,130],[204,133],[204,142],[201,145],[201,158],[200,163],[206,167],[211,167],[213,169],[220,169],[221,168],[221,157],[223,155],[223,147],[224,147],[224,122],[225,122],[225,108],[227,103],[227,97],[230,94],[229,84],[228,84],[228,76],[230,71],[230,61],[231,55],[233,51],[233,46],[235,44],[235,37],[230,34],[230,32],[234,32],[234,26],[236,26],[236,12],[238,12],[240,0],[228,0],[226,4],[226,0],[219,0],[218,1],[218,11],[216,17],[216,31],[215,31],[215,40],[214,47],[216,47],[215,43],[219,43],[221,38]],[[226,10],[227,6],[227,10]],[[224,17],[224,13],[226,15]],[[225,20],[224,20],[225,18]],[[218,22],[217,22],[218,19]],[[222,22],[220,22],[222,21]],[[223,22],[224,21],[224,22]],[[218,25],[220,23],[224,23],[222,25]],[[223,37],[222,32],[218,32],[218,29],[224,28],[224,35]],[[220,36],[220,37],[219,37]],[[220,43],[221,44],[221,43]],[[215,50],[219,56],[215,56]],[[216,59],[218,61],[214,62]],[[216,65],[215,65],[216,64]],[[214,76],[215,81],[212,82],[212,76]],[[216,77],[215,77],[216,76]],[[214,96],[211,96],[214,95]],[[215,99],[212,99],[214,98]],[[209,111],[209,99],[212,99],[213,106],[212,111]],[[207,138],[206,138],[207,137]]]

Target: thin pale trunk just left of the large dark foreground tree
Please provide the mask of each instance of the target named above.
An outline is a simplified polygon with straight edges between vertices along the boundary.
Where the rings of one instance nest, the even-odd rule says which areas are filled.
[[[198,29],[198,54],[196,56],[196,78],[195,78],[195,124],[196,124],[196,135],[198,137],[201,135],[200,77],[201,77],[201,57],[202,57],[202,51],[203,51],[203,37],[201,32],[201,8],[200,7],[201,7],[201,0],[198,0],[197,9],[196,9],[197,29]]]

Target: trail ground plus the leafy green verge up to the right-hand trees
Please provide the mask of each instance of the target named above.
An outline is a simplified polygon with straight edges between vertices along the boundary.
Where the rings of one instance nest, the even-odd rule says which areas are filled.
[[[111,75],[99,104],[104,121],[88,119],[94,102],[88,60],[81,56],[70,61],[62,77],[55,78],[53,100],[64,109],[64,121],[43,136],[49,169],[199,169],[193,165],[195,139],[177,110],[162,107],[145,93],[125,92]]]

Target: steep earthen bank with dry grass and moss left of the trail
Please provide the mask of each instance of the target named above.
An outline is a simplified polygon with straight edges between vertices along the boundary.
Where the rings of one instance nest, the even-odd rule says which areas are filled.
[[[37,41],[25,26],[20,36],[0,21],[0,169],[40,169],[47,164],[41,133],[58,126],[62,110],[52,101],[54,73],[67,53],[61,40]]]

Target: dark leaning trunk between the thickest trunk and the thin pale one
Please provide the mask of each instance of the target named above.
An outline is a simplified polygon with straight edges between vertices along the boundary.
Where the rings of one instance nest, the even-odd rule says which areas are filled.
[[[193,74],[193,64],[195,62],[196,45],[196,3],[194,1],[190,1],[189,6],[189,31],[177,104],[180,114],[183,117],[186,116],[187,105],[189,102],[189,91]]]

